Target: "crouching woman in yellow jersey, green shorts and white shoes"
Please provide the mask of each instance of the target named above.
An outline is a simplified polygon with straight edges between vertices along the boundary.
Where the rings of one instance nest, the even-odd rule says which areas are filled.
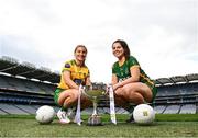
[[[74,51],[75,59],[65,62],[62,69],[61,82],[55,90],[55,103],[62,108],[57,113],[59,123],[68,124],[74,119],[74,114],[68,114],[68,108],[77,105],[79,85],[91,85],[89,69],[85,65],[87,57],[87,48],[84,45],[78,45]],[[81,96],[81,108],[91,105],[91,102]]]

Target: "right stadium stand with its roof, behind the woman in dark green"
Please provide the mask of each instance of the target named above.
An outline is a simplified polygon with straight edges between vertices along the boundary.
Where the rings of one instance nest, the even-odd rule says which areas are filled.
[[[157,113],[198,113],[198,74],[156,79],[158,93],[154,103]]]

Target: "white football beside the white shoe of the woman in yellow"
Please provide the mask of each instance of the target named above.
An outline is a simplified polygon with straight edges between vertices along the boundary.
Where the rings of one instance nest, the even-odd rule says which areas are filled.
[[[40,124],[50,124],[53,122],[55,116],[55,111],[52,106],[43,105],[36,111],[36,120]]]

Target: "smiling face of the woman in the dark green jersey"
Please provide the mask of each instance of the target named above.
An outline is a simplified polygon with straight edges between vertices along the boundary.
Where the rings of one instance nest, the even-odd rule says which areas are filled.
[[[113,43],[112,53],[117,58],[122,58],[124,56],[124,49],[120,43]]]

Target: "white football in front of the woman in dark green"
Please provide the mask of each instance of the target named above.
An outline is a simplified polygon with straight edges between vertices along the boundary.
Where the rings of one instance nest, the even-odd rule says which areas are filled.
[[[133,111],[134,122],[141,125],[150,125],[155,119],[155,111],[147,104],[140,104]]]

